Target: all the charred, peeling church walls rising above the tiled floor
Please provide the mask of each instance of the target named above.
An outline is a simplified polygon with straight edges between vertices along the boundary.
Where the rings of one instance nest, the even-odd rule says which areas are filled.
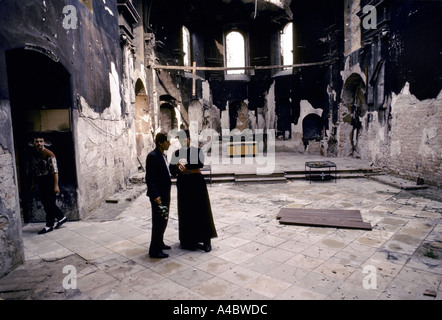
[[[217,133],[222,148],[237,134],[271,134],[276,158],[363,159],[442,186],[441,1],[0,7],[0,151],[9,159],[0,170],[12,181],[0,187],[10,201],[0,199],[0,217],[16,226],[43,217],[26,189],[35,132],[57,154],[60,205],[72,220],[130,184],[156,133],[192,123]],[[18,229],[7,237],[19,243]]]

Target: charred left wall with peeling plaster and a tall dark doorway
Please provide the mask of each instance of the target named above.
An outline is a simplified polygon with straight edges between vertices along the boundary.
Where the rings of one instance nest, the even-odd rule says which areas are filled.
[[[21,161],[32,132],[44,128],[52,142],[73,220],[125,188],[137,171],[136,80],[146,88],[144,33],[133,27],[139,17],[132,1],[84,3],[0,5],[0,274],[23,258]],[[53,110],[66,111],[68,120],[56,126]],[[42,114],[50,121],[39,128]]]

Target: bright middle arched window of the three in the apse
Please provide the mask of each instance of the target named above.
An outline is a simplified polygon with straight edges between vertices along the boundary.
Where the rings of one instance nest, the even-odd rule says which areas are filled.
[[[244,36],[238,31],[226,35],[226,64],[227,68],[246,66],[246,50]],[[245,69],[228,70],[227,74],[244,74]]]

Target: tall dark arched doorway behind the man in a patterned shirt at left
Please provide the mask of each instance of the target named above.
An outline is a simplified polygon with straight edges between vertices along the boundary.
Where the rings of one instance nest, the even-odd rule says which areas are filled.
[[[23,222],[45,220],[38,193],[30,188],[29,159],[36,132],[57,157],[57,204],[69,219],[78,219],[70,74],[55,56],[39,48],[7,51],[6,66]]]

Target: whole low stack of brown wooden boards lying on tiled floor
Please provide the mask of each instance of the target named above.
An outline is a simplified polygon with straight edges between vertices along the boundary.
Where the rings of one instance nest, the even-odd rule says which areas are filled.
[[[276,219],[280,224],[371,230],[362,221],[359,210],[281,208]]]

